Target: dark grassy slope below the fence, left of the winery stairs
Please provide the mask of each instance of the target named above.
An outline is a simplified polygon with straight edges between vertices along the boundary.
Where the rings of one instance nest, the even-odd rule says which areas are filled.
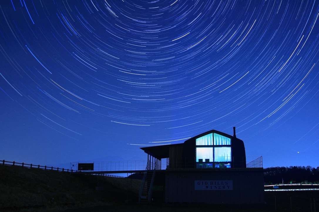
[[[0,211],[62,210],[137,201],[141,180],[0,165]],[[104,191],[96,191],[96,187]]]

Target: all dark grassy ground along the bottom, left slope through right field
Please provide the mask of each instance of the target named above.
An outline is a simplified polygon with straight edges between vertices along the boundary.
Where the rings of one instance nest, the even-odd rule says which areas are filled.
[[[258,205],[137,205],[140,185],[141,180],[0,166],[0,211],[319,211],[313,202],[319,202],[319,191],[267,191],[265,204]]]

